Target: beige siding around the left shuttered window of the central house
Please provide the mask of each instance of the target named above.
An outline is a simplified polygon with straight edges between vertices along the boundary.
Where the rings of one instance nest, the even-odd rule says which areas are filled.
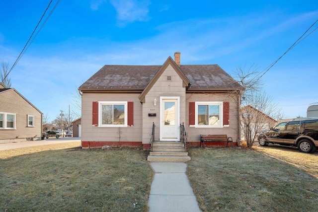
[[[142,141],[142,104],[138,93],[83,93],[81,101],[81,141]],[[134,126],[95,127],[92,126],[92,102],[128,101],[134,102]]]

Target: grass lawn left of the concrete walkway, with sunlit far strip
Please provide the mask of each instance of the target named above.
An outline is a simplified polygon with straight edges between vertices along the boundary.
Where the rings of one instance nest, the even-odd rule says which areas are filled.
[[[148,211],[148,151],[79,145],[0,151],[0,212]]]

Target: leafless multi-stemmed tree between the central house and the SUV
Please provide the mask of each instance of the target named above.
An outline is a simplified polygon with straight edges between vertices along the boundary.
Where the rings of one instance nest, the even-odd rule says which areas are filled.
[[[248,148],[257,140],[258,133],[273,125],[274,119],[281,117],[281,109],[272,103],[273,98],[262,91],[264,83],[257,69],[254,65],[248,69],[244,66],[237,68],[235,73],[235,78],[243,87],[242,99],[239,100],[239,118],[241,133]],[[270,119],[273,120],[272,123],[268,122]]]

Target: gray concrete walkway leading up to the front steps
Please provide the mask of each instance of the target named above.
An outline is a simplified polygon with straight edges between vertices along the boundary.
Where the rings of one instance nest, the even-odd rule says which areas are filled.
[[[148,201],[149,212],[201,212],[185,174],[187,164],[152,162],[155,171]]]

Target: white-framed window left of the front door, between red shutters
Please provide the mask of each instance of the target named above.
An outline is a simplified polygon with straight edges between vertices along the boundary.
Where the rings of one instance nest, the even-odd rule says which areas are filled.
[[[127,102],[99,102],[100,127],[127,127]]]

